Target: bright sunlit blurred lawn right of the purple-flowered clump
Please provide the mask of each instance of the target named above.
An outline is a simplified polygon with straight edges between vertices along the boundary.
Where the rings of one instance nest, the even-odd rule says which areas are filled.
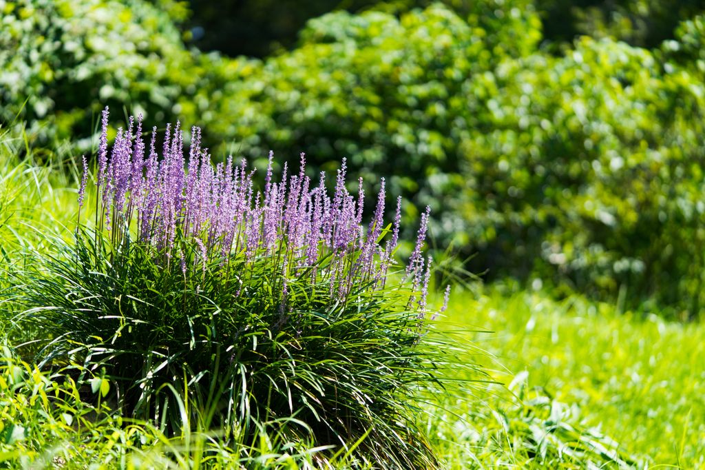
[[[600,426],[651,468],[705,468],[704,325],[498,289],[456,295],[441,321],[491,330],[466,337],[496,357],[484,361],[493,378],[509,383],[527,371],[529,388],[579,406],[582,423]],[[506,406],[506,392],[488,390],[498,398],[481,398]]]

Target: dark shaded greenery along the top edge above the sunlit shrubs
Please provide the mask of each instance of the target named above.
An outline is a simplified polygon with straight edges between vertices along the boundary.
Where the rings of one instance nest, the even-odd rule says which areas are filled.
[[[548,46],[570,44],[578,35],[613,37],[639,47],[658,47],[672,39],[683,18],[705,9],[703,0],[189,0],[185,23],[192,44],[231,56],[264,57],[281,47],[293,48],[306,21],[331,11],[367,10],[400,14],[442,3],[462,18],[477,15],[486,23],[507,20],[506,13],[536,11]],[[196,32],[196,35],[193,34]]]

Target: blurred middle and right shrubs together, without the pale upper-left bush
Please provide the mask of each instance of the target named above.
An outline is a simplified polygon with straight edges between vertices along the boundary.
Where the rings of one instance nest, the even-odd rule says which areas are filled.
[[[613,299],[627,289],[629,306],[655,296],[694,315],[705,88],[682,56],[699,54],[687,45],[698,23],[681,28],[680,61],[669,43],[589,37],[552,56],[535,14],[505,12],[312,20],[293,52],[238,62],[213,113],[238,119],[209,127],[249,157],[305,150],[393,174],[393,191],[431,205],[436,235],[476,254],[474,272]]]

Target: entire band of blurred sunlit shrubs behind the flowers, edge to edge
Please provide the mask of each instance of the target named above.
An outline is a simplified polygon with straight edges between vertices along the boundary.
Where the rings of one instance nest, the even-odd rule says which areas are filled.
[[[331,13],[260,61],[187,51],[181,3],[0,1],[0,120],[46,143],[90,135],[111,104],[200,124],[217,157],[348,157],[391,175],[410,216],[431,205],[439,241],[489,279],[696,315],[703,17],[658,49],[582,37],[549,54],[531,0],[423,4]]]

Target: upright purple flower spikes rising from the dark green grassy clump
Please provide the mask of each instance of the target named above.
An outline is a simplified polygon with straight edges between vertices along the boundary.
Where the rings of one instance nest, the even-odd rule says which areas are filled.
[[[283,260],[282,295],[286,299],[288,277],[312,272],[330,283],[332,295],[344,299],[358,282],[384,287],[399,241],[401,198],[396,216],[385,227],[385,181],[381,179],[372,219],[362,223],[364,192],[362,179],[357,197],[345,184],[345,159],[338,170],[332,194],[326,175],[314,181],[307,176],[305,155],[298,173],[289,174],[286,164],[279,181],[273,178],[274,155],[264,179],[264,192],[253,183],[255,170],[232,157],[213,165],[201,147],[201,131],[192,128],[185,153],[180,123],[166,126],[161,155],[156,148],[157,131],[152,128],[149,145],[142,138],[142,118],[130,118],[127,129],[118,128],[109,151],[108,109],[102,115],[102,133],[97,163],[97,224],[114,242],[133,236],[166,263],[187,265],[180,241],[191,243],[199,254],[197,269],[214,262],[226,266],[233,258],[255,263],[262,257]],[[85,164],[85,163],[84,163]],[[85,178],[85,177],[84,177]],[[85,180],[80,189],[82,203]],[[419,315],[426,313],[431,274],[422,246],[429,209],[422,215],[415,249],[405,275],[419,291]],[[328,260],[321,263],[322,259]]]

